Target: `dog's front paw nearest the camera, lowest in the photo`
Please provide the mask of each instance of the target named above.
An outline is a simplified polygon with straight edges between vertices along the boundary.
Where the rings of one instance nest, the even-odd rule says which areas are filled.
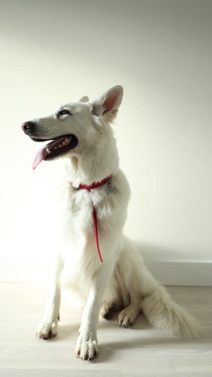
[[[98,355],[97,337],[93,336],[92,333],[83,334],[80,332],[75,352],[76,357],[80,357],[82,360],[92,360]]]

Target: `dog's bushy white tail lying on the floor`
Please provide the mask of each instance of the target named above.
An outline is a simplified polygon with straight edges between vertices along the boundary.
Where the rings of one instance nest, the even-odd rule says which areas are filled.
[[[200,333],[199,323],[160,285],[144,296],[142,311],[153,326],[169,334],[193,339]]]

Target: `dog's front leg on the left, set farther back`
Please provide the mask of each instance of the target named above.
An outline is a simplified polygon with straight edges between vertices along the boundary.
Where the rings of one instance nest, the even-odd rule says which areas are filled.
[[[36,335],[40,339],[52,338],[57,333],[60,309],[60,275],[63,269],[63,261],[60,255],[56,256],[49,279],[46,307],[42,321],[39,323]]]

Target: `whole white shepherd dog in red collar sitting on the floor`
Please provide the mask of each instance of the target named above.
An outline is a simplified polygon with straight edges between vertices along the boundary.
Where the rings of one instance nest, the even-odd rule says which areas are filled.
[[[129,327],[142,311],[153,326],[169,334],[194,338],[199,333],[196,320],[170,298],[143,264],[136,245],[123,235],[130,187],[119,168],[111,128],[122,97],[123,88],[117,85],[96,100],[84,96],[47,117],[22,124],[32,140],[49,140],[36,154],[33,169],[42,160],[66,159],[61,201],[63,247],[52,269],[37,336],[48,339],[56,335],[65,267],[74,289],[86,298],[75,349],[83,360],[98,355],[100,313],[109,319],[119,310],[118,323]]]

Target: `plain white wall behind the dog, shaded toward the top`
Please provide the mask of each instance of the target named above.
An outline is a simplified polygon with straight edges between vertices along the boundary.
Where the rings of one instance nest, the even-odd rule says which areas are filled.
[[[212,2],[0,8],[0,279],[43,276],[51,254],[58,168],[31,171],[38,147],[21,123],[115,84],[125,90],[115,131],[132,188],[126,233],[146,260],[212,261]]]

